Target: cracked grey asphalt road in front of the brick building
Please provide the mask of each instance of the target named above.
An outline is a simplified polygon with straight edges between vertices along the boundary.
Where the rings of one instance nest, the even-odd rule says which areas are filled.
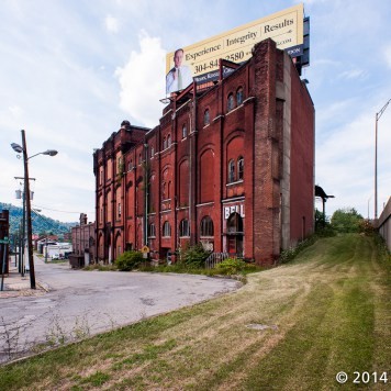
[[[48,292],[0,300],[0,361],[9,351],[98,334],[239,287],[193,275],[72,270],[37,257],[35,276]]]

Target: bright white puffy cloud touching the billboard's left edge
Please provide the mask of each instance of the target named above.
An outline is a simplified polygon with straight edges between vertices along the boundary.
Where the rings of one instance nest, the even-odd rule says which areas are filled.
[[[139,52],[132,51],[127,64],[115,76],[121,85],[120,107],[139,123],[154,127],[161,116],[165,96],[165,56],[160,38],[142,31]]]

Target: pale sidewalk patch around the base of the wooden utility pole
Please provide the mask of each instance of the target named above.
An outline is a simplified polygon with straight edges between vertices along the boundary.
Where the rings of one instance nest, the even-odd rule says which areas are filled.
[[[2,276],[0,275],[0,282]],[[47,290],[36,280],[36,289],[31,289],[30,272],[25,272],[24,277],[18,271],[14,259],[9,262],[9,273],[4,276],[3,291],[0,291],[0,300],[18,297],[42,295]]]

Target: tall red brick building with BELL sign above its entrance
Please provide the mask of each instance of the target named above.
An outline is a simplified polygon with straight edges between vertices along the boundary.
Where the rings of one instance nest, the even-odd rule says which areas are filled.
[[[124,121],[96,150],[99,259],[201,242],[272,264],[313,232],[314,107],[292,59],[267,40],[220,75],[171,96],[155,129]]]

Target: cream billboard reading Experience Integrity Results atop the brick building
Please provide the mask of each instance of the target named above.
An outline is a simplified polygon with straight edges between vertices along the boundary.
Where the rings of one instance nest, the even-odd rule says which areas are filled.
[[[193,78],[197,83],[217,79],[220,58],[243,63],[256,43],[269,37],[291,57],[301,56],[303,13],[301,3],[167,54],[166,93],[185,89]]]

